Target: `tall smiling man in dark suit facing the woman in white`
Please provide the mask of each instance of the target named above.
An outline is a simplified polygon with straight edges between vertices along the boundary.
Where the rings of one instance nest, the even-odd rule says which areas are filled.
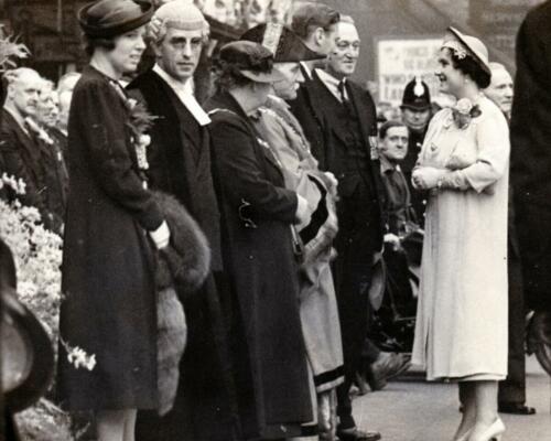
[[[309,96],[315,97],[310,112],[315,115],[304,118],[303,115],[309,115],[307,108],[295,111],[306,137],[315,139],[315,131],[323,133],[313,153],[321,169],[338,180],[339,233],[335,241],[338,258],[334,279],[346,377],[337,389],[337,435],[344,441],[380,439],[379,433],[364,432],[356,427],[348,395],[367,336],[371,269],[382,248],[380,169],[372,159],[377,140],[376,108],[369,93],[347,78],[356,68],[359,45],[354,22],[342,18],[327,68],[315,69],[307,86]],[[321,123],[321,130],[310,123],[312,119]]]

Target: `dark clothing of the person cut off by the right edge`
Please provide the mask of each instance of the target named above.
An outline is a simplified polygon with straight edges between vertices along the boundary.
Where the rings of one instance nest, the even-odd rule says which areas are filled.
[[[528,306],[551,311],[551,1],[517,37],[511,182]]]

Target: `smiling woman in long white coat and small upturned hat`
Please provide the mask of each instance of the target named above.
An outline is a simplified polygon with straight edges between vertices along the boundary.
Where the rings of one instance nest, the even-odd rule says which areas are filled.
[[[413,185],[430,194],[414,364],[429,380],[460,384],[454,441],[499,440],[497,381],[507,375],[507,187],[505,117],[482,89],[488,52],[450,28],[439,54],[441,90],[457,98],[429,127]]]

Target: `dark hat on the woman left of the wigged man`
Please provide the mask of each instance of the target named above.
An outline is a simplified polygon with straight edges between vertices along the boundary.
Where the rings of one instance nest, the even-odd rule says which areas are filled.
[[[77,18],[86,35],[109,39],[142,26],[153,12],[147,0],[100,0],[83,7]]]

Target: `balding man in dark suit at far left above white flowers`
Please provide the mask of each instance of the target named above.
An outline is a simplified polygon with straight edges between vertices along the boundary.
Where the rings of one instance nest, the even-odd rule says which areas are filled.
[[[25,183],[24,204],[35,206],[44,225],[52,228],[54,214],[48,207],[47,151],[30,126],[36,115],[43,79],[37,72],[20,67],[6,75],[8,90],[0,128],[0,170]]]

